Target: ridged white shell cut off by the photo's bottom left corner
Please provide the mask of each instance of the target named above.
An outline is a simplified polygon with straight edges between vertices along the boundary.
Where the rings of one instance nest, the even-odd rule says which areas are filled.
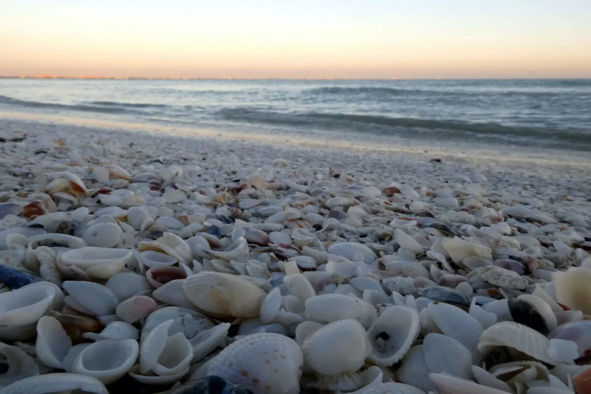
[[[100,380],[77,373],[47,373],[26,377],[6,386],[0,392],[2,394],[50,394],[77,389],[86,393],[109,394]]]

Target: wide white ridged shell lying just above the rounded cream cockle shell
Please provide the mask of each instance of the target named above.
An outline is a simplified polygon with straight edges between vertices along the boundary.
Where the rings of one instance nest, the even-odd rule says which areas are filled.
[[[374,305],[353,295],[322,294],[308,298],[304,303],[306,317],[321,323],[332,323],[343,319],[359,321],[363,328],[369,328],[378,317]]]

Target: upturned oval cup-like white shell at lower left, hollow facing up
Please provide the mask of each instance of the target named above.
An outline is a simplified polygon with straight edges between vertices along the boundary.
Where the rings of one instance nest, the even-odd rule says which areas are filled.
[[[83,349],[72,364],[72,372],[96,377],[106,384],[124,376],[138,358],[136,340],[105,339]]]

